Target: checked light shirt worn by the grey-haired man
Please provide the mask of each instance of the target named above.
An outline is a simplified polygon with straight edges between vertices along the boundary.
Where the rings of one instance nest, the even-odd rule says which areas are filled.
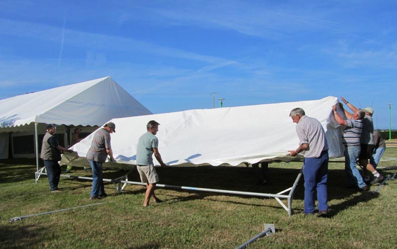
[[[302,116],[299,123],[296,124],[296,133],[299,137],[299,144],[309,144],[309,148],[305,151],[305,157],[317,158],[324,150],[328,150],[326,133],[318,120],[306,115]]]

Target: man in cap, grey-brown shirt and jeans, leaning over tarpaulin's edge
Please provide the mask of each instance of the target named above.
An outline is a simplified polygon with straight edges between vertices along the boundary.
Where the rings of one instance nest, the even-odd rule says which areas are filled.
[[[103,186],[102,163],[106,161],[108,155],[110,156],[110,161],[115,161],[112,146],[110,145],[110,134],[113,132],[116,132],[116,125],[112,122],[105,124],[102,129],[99,129],[95,133],[91,147],[86,155],[92,169],[91,200],[107,196]]]

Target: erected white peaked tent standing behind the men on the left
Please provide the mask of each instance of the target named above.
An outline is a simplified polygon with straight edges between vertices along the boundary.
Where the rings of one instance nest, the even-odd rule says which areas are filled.
[[[0,155],[8,157],[8,134],[35,134],[38,154],[38,133],[45,133],[45,124],[67,126],[102,125],[113,118],[151,114],[112,78],[85,81],[0,100]],[[23,136],[20,136],[23,137]],[[22,139],[23,140],[23,139]],[[67,140],[67,139],[66,139]]]

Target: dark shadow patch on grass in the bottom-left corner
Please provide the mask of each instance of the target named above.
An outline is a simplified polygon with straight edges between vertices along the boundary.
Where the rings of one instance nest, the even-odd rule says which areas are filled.
[[[41,248],[45,245],[42,241],[47,228],[36,225],[0,225],[1,248]]]

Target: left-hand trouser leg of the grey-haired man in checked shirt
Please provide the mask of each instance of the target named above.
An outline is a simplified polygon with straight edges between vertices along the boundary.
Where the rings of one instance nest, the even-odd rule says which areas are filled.
[[[314,202],[314,192],[316,189],[316,172],[318,167],[315,166],[314,158],[305,158],[303,161],[303,178],[305,180],[305,197],[304,209],[305,214],[313,214],[316,208]]]

